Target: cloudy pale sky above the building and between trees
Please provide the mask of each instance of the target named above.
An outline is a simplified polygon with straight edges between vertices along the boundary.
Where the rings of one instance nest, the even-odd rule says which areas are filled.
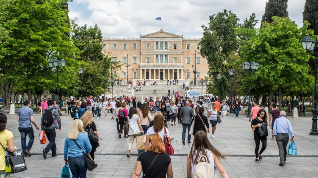
[[[201,38],[201,25],[209,16],[223,11],[234,12],[240,22],[255,13],[259,20],[266,0],[73,0],[69,3],[69,17],[79,25],[98,24],[104,37],[139,38],[140,35],[164,31],[183,35],[184,38]],[[289,0],[289,17],[302,26],[305,0]],[[156,21],[156,17],[162,21]]]

